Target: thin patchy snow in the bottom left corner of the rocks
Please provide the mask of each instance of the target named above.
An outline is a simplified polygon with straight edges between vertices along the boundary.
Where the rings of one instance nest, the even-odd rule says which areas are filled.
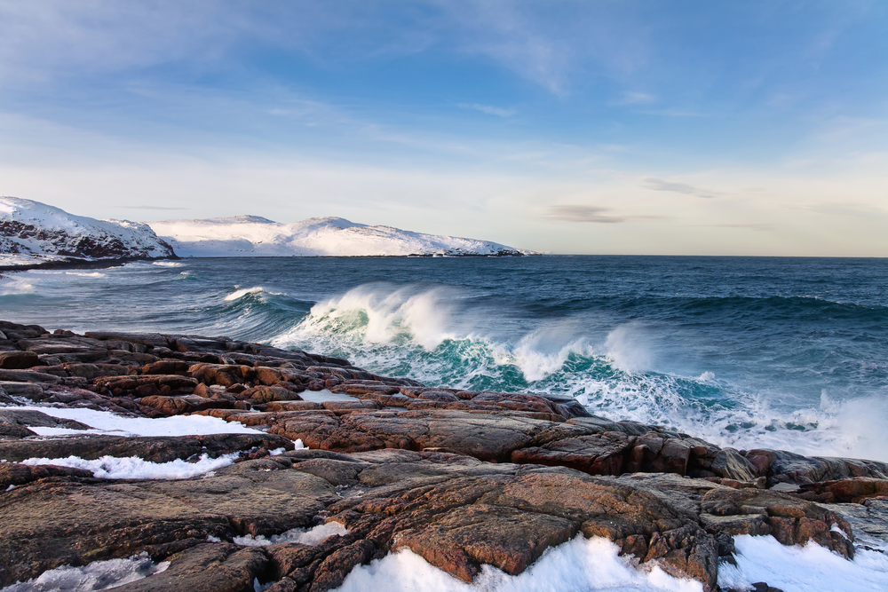
[[[131,581],[141,580],[149,575],[160,573],[170,566],[169,561],[155,564],[147,553],[131,556],[129,559],[108,559],[93,561],[83,567],[62,565],[54,570],[41,573],[37,578],[17,582],[0,588],[0,592],[91,592],[123,586]]]

